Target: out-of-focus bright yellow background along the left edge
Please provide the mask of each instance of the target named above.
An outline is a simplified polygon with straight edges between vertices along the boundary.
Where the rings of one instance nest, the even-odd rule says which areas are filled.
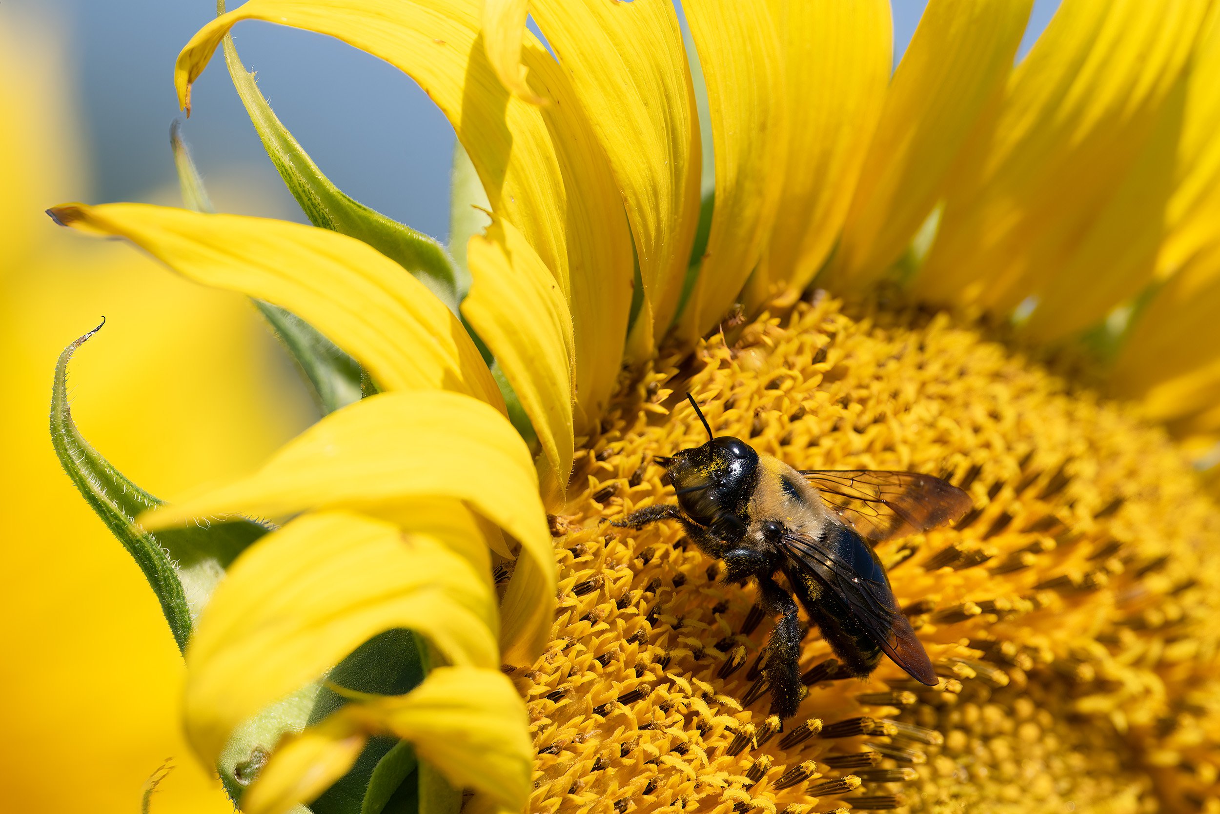
[[[0,799],[10,812],[134,814],[172,758],[152,812],[231,812],[183,741],[182,658],[160,607],[51,450],[51,376],[105,315],[71,367],[73,415],[161,497],[256,465],[309,408],[243,298],[43,215],[89,196],[55,52],[45,31],[0,12]]]

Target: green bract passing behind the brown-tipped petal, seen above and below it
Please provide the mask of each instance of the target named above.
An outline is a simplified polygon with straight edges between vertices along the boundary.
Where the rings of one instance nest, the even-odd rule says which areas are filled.
[[[216,211],[204,188],[204,179],[199,176],[199,168],[190,157],[190,148],[182,138],[182,123],[177,120],[170,128],[170,146],[173,149],[183,205],[196,212]],[[355,359],[295,314],[262,300],[255,300],[254,304],[310,383],[314,400],[322,415],[360,400],[361,371]]]

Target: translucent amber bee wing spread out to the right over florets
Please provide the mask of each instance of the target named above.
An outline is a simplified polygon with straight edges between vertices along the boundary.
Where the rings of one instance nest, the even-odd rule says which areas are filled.
[[[970,495],[920,472],[867,469],[800,472],[856,533],[881,542],[953,522],[970,510]]]

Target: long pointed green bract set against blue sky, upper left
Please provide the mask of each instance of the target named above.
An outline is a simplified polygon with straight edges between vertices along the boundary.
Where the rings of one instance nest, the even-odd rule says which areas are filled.
[[[353,200],[331,183],[272,112],[228,35],[224,37],[224,61],[262,146],[310,222],[364,240],[411,272],[458,314],[456,270],[444,247]]]

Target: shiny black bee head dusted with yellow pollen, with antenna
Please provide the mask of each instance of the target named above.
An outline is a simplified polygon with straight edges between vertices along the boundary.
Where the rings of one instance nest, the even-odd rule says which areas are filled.
[[[741,438],[714,437],[694,398],[687,398],[708,430],[709,441],[658,463],[665,466],[682,511],[695,522],[710,526],[726,514],[743,519],[758,483],[759,455]]]

